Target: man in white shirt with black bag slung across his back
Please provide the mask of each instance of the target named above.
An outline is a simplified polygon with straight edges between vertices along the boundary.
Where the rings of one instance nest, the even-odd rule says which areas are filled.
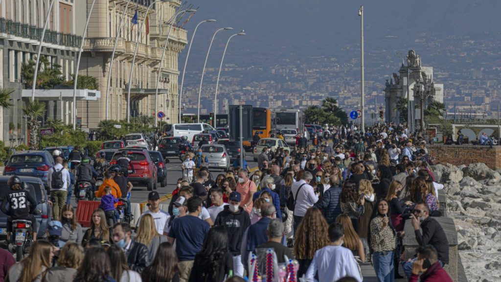
[[[305,172],[300,181],[294,182],[291,186],[291,191],[294,196],[294,233],[298,229],[298,225],[303,220],[306,210],[312,207],[318,201],[318,195],[315,194],[313,187],[310,185],[313,175],[310,172]]]

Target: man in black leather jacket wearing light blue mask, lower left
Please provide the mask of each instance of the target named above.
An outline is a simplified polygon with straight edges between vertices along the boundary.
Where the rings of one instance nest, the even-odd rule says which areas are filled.
[[[124,250],[129,268],[141,273],[149,264],[148,247],[134,242],[131,234],[132,229],[126,222],[118,222],[113,226],[113,241]]]

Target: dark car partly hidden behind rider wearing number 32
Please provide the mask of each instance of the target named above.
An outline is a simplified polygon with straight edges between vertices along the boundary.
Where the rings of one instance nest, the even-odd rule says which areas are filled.
[[[9,181],[10,176],[0,176],[0,197],[2,199],[7,192],[7,183]],[[49,205],[47,199],[49,195],[47,194],[44,183],[40,178],[29,177],[29,176],[20,176],[21,181],[24,181],[28,184],[30,194],[34,196],[35,201],[37,201],[37,210],[42,211],[41,214],[35,215],[38,223],[38,231],[37,237],[45,236],[45,230],[47,229],[47,224],[49,220],[52,218],[52,208]],[[7,215],[0,211],[0,240],[7,239]]]

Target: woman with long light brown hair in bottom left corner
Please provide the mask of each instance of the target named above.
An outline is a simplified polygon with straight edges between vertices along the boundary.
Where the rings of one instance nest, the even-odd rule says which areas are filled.
[[[11,282],[40,282],[44,272],[51,267],[56,248],[49,242],[33,242],[30,254],[9,269]]]

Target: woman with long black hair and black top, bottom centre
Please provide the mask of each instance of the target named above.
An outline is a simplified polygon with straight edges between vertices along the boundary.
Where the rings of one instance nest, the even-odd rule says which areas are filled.
[[[224,226],[209,230],[202,250],[195,256],[188,282],[219,282],[233,271],[233,256],[229,252],[228,234]]]

